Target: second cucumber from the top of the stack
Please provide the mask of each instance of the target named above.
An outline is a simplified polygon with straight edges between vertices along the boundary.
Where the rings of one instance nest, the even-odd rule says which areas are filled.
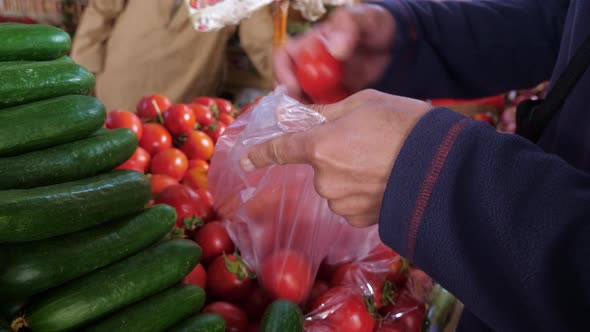
[[[0,39],[1,40],[1,39]],[[0,70],[0,108],[71,94],[87,94],[94,75],[75,63],[46,61]]]

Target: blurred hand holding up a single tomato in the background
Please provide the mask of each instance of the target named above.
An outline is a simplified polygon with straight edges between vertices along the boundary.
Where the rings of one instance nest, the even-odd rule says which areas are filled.
[[[332,56],[344,63],[343,85],[357,92],[375,83],[390,63],[395,35],[393,16],[381,6],[359,4],[342,7],[310,32],[287,41],[273,57],[276,85],[287,87],[287,93],[308,102],[295,77],[297,55],[318,37],[325,40]]]

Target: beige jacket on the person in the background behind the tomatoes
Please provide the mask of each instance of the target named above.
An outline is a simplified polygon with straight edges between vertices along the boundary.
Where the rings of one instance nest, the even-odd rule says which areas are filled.
[[[96,95],[107,109],[134,111],[152,93],[173,102],[217,95],[226,43],[235,31],[196,32],[180,0],[90,0],[72,58],[96,74]],[[257,70],[271,80],[270,7],[242,21],[239,36]]]

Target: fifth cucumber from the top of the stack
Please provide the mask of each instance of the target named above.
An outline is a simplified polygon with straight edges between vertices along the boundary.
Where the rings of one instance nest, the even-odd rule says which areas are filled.
[[[135,171],[33,189],[0,191],[0,243],[42,240],[139,211],[150,199],[149,179]]]

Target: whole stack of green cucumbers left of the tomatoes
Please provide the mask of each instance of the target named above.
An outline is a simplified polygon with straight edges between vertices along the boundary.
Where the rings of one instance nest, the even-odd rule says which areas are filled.
[[[146,208],[148,178],[113,171],[137,138],[103,128],[70,37],[11,23],[0,41],[0,331],[223,331],[191,318],[205,294],[180,281],[201,249],[168,239],[174,209]]]

